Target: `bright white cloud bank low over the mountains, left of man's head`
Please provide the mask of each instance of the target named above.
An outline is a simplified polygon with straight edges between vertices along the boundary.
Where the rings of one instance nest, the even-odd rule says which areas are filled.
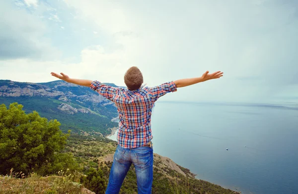
[[[1,79],[26,82],[49,82],[56,78],[51,72],[64,72],[72,78],[100,80],[121,85],[126,68],[125,53],[114,51],[109,53],[100,45],[90,46],[81,51],[80,63],[65,63],[64,61],[36,61],[32,59],[11,59],[2,61],[0,66]],[[15,71],[18,67],[18,71]],[[34,68],[32,68],[34,67]],[[28,72],[28,69],[30,71]],[[5,72],[14,72],[7,74]],[[24,74],[24,72],[26,72]],[[117,78],[117,79],[115,79]]]

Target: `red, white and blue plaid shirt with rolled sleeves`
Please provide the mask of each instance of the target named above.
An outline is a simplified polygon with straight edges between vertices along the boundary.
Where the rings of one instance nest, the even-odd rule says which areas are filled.
[[[153,103],[169,92],[176,92],[174,82],[156,87],[130,91],[93,81],[90,88],[115,102],[119,113],[118,144],[124,148],[141,147],[153,138],[151,134],[151,110]]]

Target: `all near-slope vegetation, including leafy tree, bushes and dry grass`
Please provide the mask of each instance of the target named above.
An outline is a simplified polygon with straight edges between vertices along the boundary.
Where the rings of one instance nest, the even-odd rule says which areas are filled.
[[[36,111],[26,114],[22,108],[18,103],[8,109],[0,105],[0,174],[6,175],[0,176],[0,193],[84,194],[87,188],[103,194],[117,143],[102,136],[63,134],[57,120]],[[154,157],[153,194],[237,194],[194,179],[180,166],[186,176],[179,174],[163,160]],[[137,191],[132,165],[120,193]]]

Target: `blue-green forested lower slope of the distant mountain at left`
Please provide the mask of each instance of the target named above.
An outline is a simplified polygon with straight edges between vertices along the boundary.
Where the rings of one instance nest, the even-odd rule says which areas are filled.
[[[100,110],[106,109],[106,111],[99,112],[98,108],[96,109],[97,111],[92,110],[96,112],[96,114],[81,112],[67,114],[57,108],[61,103],[72,104],[73,106],[79,105],[48,97],[0,97],[0,101],[4,101],[4,104],[7,106],[15,101],[21,102],[26,112],[37,111],[43,117],[57,119],[61,122],[60,128],[63,132],[67,132],[68,130],[71,130],[72,133],[86,131],[94,135],[96,132],[107,135],[109,133],[108,128],[118,126],[118,123],[111,121],[111,118],[113,116],[116,117],[117,113],[114,112],[109,115],[108,112],[110,112],[110,110],[104,106],[102,106]],[[106,116],[101,116],[103,114]]]

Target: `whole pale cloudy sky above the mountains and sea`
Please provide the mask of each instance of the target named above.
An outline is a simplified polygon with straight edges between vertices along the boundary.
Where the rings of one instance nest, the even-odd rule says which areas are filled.
[[[298,102],[298,1],[0,1],[2,80],[124,86],[131,66],[149,87],[224,72],[163,100]]]

